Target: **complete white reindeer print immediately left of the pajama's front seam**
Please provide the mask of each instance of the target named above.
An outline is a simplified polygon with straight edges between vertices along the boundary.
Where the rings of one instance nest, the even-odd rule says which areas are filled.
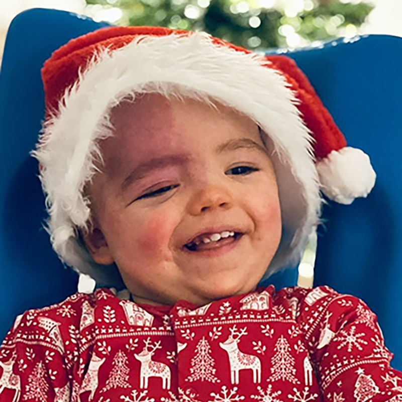
[[[170,388],[170,368],[158,361],[153,361],[152,356],[156,349],[161,349],[160,342],[155,343],[154,347],[151,347],[151,340],[147,338],[144,341],[145,347],[140,354],[135,354],[134,356],[137,360],[141,362],[140,370],[140,388],[148,388],[148,378],[149,377],[161,377],[162,378],[162,388]],[[150,350],[148,350],[150,348]]]

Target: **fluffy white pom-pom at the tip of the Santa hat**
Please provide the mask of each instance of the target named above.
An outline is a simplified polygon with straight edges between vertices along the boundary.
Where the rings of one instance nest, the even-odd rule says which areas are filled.
[[[332,151],[316,167],[321,190],[340,204],[348,205],[357,197],[366,197],[375,183],[370,158],[360,149],[345,147]]]

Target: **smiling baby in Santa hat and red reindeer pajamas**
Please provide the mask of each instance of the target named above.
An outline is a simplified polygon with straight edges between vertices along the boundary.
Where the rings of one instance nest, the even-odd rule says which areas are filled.
[[[258,286],[299,259],[320,186],[348,204],[375,179],[290,59],[107,28],[56,51],[43,79],[53,247],[127,297],[100,287],[19,316],[2,400],[402,400],[361,300]],[[336,173],[351,160],[359,180]]]

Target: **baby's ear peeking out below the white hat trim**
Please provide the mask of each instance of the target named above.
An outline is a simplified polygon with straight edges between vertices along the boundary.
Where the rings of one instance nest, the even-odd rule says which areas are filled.
[[[80,230],[80,238],[95,262],[102,265],[112,265],[115,262],[96,220],[92,220],[87,231]]]

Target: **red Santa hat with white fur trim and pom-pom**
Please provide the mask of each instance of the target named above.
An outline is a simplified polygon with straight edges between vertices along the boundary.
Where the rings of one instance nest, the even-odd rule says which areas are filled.
[[[306,76],[285,56],[263,56],[203,32],[111,27],[74,39],[46,61],[46,119],[33,155],[49,212],[48,231],[63,262],[103,285],[117,277],[80,243],[87,228],[85,184],[99,141],[112,135],[111,110],[123,98],[157,92],[216,100],[262,130],[278,181],[283,234],[267,274],[296,263],[321,213],[320,189],[350,204],[375,173],[346,141]]]

